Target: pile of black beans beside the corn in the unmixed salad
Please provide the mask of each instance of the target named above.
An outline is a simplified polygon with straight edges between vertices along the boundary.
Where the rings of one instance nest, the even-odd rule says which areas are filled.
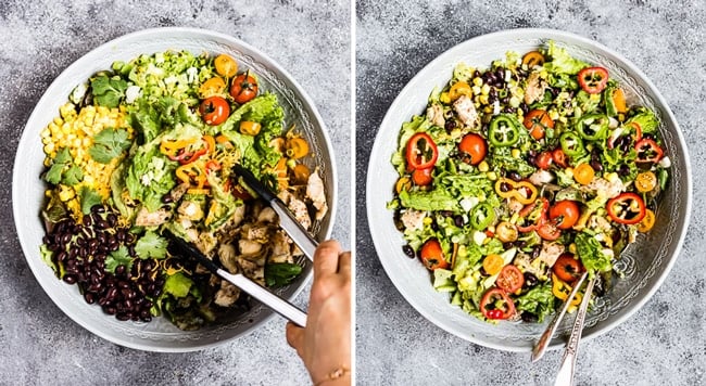
[[[86,303],[98,304],[121,321],[149,322],[152,299],[162,293],[164,279],[157,261],[136,258],[136,236],[117,222],[114,213],[96,205],[84,216],[83,223],[72,219],[55,223],[43,242],[60,267],[60,279],[78,285]],[[133,267],[128,270],[119,265],[111,273],[105,270],[105,259],[121,246],[127,247]]]

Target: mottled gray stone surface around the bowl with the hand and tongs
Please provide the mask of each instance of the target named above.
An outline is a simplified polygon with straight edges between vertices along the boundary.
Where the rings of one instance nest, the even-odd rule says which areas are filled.
[[[338,157],[333,236],[350,248],[350,2],[0,2],[0,385],[302,385],[308,375],[274,318],[251,335],[193,353],[103,340],[64,316],[29,271],[12,226],[15,149],[35,103],[71,63],[127,33],[185,26],[231,35],[285,67],[312,97]],[[34,178],[34,177],[29,177]],[[28,216],[35,216],[29,214]],[[308,292],[298,298],[305,306]]]

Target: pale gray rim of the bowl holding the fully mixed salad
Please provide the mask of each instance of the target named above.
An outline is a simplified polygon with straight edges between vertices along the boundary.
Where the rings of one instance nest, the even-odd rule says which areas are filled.
[[[396,105],[404,103],[403,97],[409,92],[412,88],[414,88],[415,83],[423,78],[424,76],[427,75],[430,68],[439,65],[440,63],[456,63],[457,61],[454,61],[453,57],[457,56],[459,52],[462,52],[466,47],[469,47],[471,44],[478,44],[481,41],[484,40],[492,40],[495,38],[522,38],[522,37],[539,37],[539,38],[545,38],[545,39],[552,39],[555,41],[573,41],[579,44],[583,44],[584,47],[589,47],[591,51],[603,51],[608,55],[613,55],[613,57],[616,60],[616,63],[622,67],[622,68],[628,68],[633,75],[639,78],[641,81],[644,81],[646,88],[648,89],[650,92],[653,93],[655,97],[657,104],[664,107],[664,113],[668,115],[669,120],[673,123],[673,128],[675,128],[675,134],[678,140],[678,145],[681,149],[683,153],[683,158],[684,158],[684,175],[685,175],[685,180],[686,184],[684,186],[684,196],[685,196],[685,210],[684,210],[684,218],[683,218],[683,228],[681,230],[681,234],[679,235],[679,239],[676,241],[676,247],[672,257],[669,259],[669,261],[664,266],[664,270],[661,272],[655,273],[656,280],[654,285],[650,287],[644,294],[643,297],[635,298],[633,299],[633,305],[630,307],[630,309],[622,313],[620,317],[615,319],[614,321],[609,323],[605,323],[605,325],[600,325],[597,329],[592,327],[588,331],[584,331],[583,334],[583,339],[592,339],[596,336],[603,335],[604,333],[615,329],[626,320],[628,320],[630,317],[632,317],[638,310],[640,310],[645,303],[647,303],[652,296],[657,292],[657,290],[664,283],[665,279],[671,271],[671,268],[673,267],[678,256],[681,253],[681,248],[683,246],[684,239],[686,236],[688,230],[689,230],[689,223],[691,220],[691,209],[692,209],[692,168],[691,168],[691,163],[690,163],[690,157],[689,157],[689,151],[688,146],[685,145],[684,142],[684,137],[683,132],[679,126],[679,123],[677,121],[673,113],[671,112],[671,108],[669,108],[669,105],[667,104],[667,101],[665,98],[661,95],[661,93],[657,90],[655,85],[652,82],[652,80],[638,67],[635,66],[631,61],[622,56],[620,53],[616,52],[615,50],[585,37],[582,37],[580,35],[576,35],[572,33],[568,33],[565,30],[558,30],[558,29],[551,29],[551,28],[515,28],[515,29],[505,29],[505,30],[499,30],[494,33],[489,33],[489,34],[483,34],[479,36],[475,36],[470,39],[467,39],[465,41],[462,41],[434,59],[432,59],[429,63],[427,63],[421,69],[419,69],[408,81],[407,83],[400,90],[395,99],[392,101],[392,103],[389,105],[384,117],[382,118],[380,125],[378,126],[377,134],[374,140],[373,149],[370,151],[370,156],[368,159],[368,168],[367,168],[367,178],[366,178],[366,215],[368,219],[368,227],[369,227],[369,232],[370,236],[373,239],[373,243],[376,249],[376,254],[378,255],[378,259],[380,260],[380,263],[382,265],[382,268],[384,269],[386,274],[392,282],[393,286],[401,293],[402,297],[414,308],[419,312],[425,319],[430,321],[431,323],[436,324],[437,326],[441,327],[442,330],[456,335],[465,340],[471,342],[474,344],[478,344],[481,346],[486,346],[489,348],[494,348],[499,350],[505,350],[505,351],[529,351],[531,350],[531,347],[520,347],[520,346],[508,346],[508,345],[503,345],[503,344],[495,344],[492,340],[483,340],[482,338],[479,338],[477,336],[474,336],[471,334],[463,334],[459,329],[456,329],[452,323],[445,320],[436,320],[430,312],[427,312],[427,309],[424,307],[424,305],[417,299],[411,299],[406,294],[401,290],[401,283],[398,281],[399,279],[395,279],[394,274],[391,274],[391,272],[394,272],[394,265],[391,262],[390,257],[381,257],[380,250],[384,250],[382,247],[382,244],[384,241],[379,240],[379,237],[376,237],[376,230],[378,227],[383,228],[381,224],[376,223],[375,221],[370,221],[370,218],[375,217],[375,210],[378,210],[379,208],[374,207],[373,204],[373,198],[377,191],[379,191],[379,186],[374,186],[373,183],[370,183],[371,176],[375,175],[375,170],[380,167],[380,165],[374,165],[371,162],[376,156],[379,156],[380,151],[381,151],[381,138],[383,137],[383,131],[384,128],[391,127],[393,125],[396,125],[395,117],[392,116],[392,111],[393,107]],[[405,118],[407,121],[411,117]],[[399,131],[399,128],[396,129]],[[387,155],[389,157],[389,155]],[[401,254],[401,253],[400,253]],[[472,318],[471,316],[468,316],[468,318]],[[549,346],[550,349],[558,349],[564,346],[563,343],[557,343],[556,339],[552,342],[552,344]]]

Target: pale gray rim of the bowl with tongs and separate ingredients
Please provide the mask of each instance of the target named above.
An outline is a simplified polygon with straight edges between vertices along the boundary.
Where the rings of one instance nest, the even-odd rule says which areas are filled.
[[[317,134],[322,136],[320,138],[323,141],[320,145],[324,150],[326,150],[326,152],[330,156],[330,164],[327,165],[327,167],[330,168],[330,175],[331,175],[330,192],[327,192],[330,195],[329,213],[327,214],[329,221],[326,224],[326,228],[323,229],[322,231],[325,239],[329,239],[331,236],[335,227],[337,211],[338,211],[338,205],[337,205],[338,171],[337,171],[336,157],[332,149],[332,143],[331,143],[330,136],[328,133],[327,126],[322,115],[319,114],[318,108],[314,104],[312,98],[308,95],[306,90],[302,88],[302,86],[289,74],[289,72],[287,72],[279,63],[274,61],[269,55],[265,54],[260,49],[234,36],[218,33],[211,29],[194,28],[194,27],[155,27],[155,28],[135,30],[118,36],[81,54],[80,57],[76,59],[73,63],[71,63],[67,67],[65,67],[59,74],[59,76],[56,76],[56,78],[52,80],[49,87],[47,87],[43,90],[40,99],[36,102],[35,108],[33,110],[31,114],[29,115],[27,121],[23,127],[22,136],[17,143],[16,153],[14,157],[14,165],[12,170],[12,213],[14,216],[13,222],[17,233],[17,240],[20,241],[23,255],[25,257],[27,265],[29,266],[29,269],[34,274],[35,280],[39,283],[39,285],[42,287],[43,292],[49,296],[49,298],[51,298],[52,303],[56,307],[59,307],[62,310],[62,312],[65,316],[67,316],[71,320],[79,324],[81,327],[88,330],[92,334],[100,336],[101,338],[108,342],[124,347],[144,350],[144,351],[154,351],[154,352],[189,352],[189,351],[202,350],[206,348],[220,346],[226,343],[232,342],[241,336],[249,335],[252,332],[254,332],[257,327],[264,325],[266,322],[272,320],[275,317],[275,313],[274,311],[263,306],[263,310],[260,312],[261,314],[260,319],[251,323],[241,333],[225,338],[222,336],[217,336],[215,338],[210,339],[211,342],[200,343],[200,344],[193,344],[193,340],[188,340],[189,342],[188,345],[185,345],[184,344],[185,342],[179,342],[179,343],[172,343],[169,345],[164,345],[164,346],[155,346],[150,344],[150,342],[148,342],[147,339],[138,340],[131,338],[130,336],[123,336],[123,335],[116,336],[116,335],[105,334],[98,326],[91,325],[90,323],[84,320],[77,320],[74,317],[74,314],[77,314],[78,312],[70,310],[68,309],[70,307],[61,301],[60,299],[62,297],[61,294],[56,294],[50,291],[51,290],[49,287],[50,284],[39,280],[40,278],[39,270],[42,269],[42,267],[46,267],[46,265],[43,261],[41,261],[41,258],[39,257],[38,246],[27,245],[27,243],[24,241],[27,239],[27,233],[23,228],[20,227],[16,220],[18,218],[26,216],[26,214],[22,213],[22,208],[20,208],[18,205],[15,204],[17,202],[16,197],[20,197],[21,195],[24,194],[24,192],[20,190],[20,184],[17,182],[21,179],[26,178],[26,176],[23,176],[24,170],[23,167],[21,166],[22,163],[22,159],[20,159],[22,153],[21,150],[28,146],[28,143],[30,141],[37,140],[37,138],[34,138],[34,133],[29,133],[30,130],[28,130],[28,128],[30,126],[34,127],[35,125],[46,125],[46,123],[40,118],[40,116],[43,114],[41,114],[41,112],[38,108],[36,108],[36,106],[40,106],[48,103],[49,94],[51,93],[51,91],[55,88],[61,87],[61,85],[63,85],[64,81],[71,80],[71,79],[65,79],[67,78],[68,74],[84,66],[86,63],[88,63],[88,60],[91,59],[92,56],[96,56],[97,53],[110,50],[114,46],[129,43],[130,41],[134,41],[136,39],[144,39],[149,37],[159,39],[160,37],[163,37],[165,35],[191,35],[199,40],[213,39],[213,40],[226,41],[228,46],[243,50],[244,52],[253,56],[256,56],[259,59],[259,62],[263,63],[269,69],[272,69],[273,73],[277,74],[280,79],[291,85],[291,90],[294,92],[294,97],[300,100],[302,105],[307,110],[307,113],[311,115],[311,121],[315,125],[315,127],[318,127],[320,129],[320,130],[316,130]],[[178,50],[178,49],[179,49],[178,47],[173,48],[173,50]],[[33,248],[36,250],[34,250]],[[304,288],[306,288],[307,284],[312,280],[312,275],[313,275],[312,270],[308,270],[308,272],[306,272],[306,275],[302,278],[301,283],[295,287],[292,294],[288,297],[288,300],[290,301],[294,300],[299,296],[299,294],[301,294],[301,292],[304,291]]]

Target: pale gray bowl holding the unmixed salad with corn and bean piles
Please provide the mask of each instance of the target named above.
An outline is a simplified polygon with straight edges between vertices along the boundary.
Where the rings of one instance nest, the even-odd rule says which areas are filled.
[[[192,28],[157,28],[129,34],[106,42],[67,67],[39,100],[22,134],[13,170],[12,205],[17,235],[29,268],[49,297],[70,318],[96,335],[123,346],[152,351],[189,351],[215,346],[253,331],[273,313],[262,305],[253,304],[243,316],[192,332],[180,331],[163,318],[150,323],[119,322],[104,314],[100,307],[87,305],[77,286],[58,280],[39,254],[43,236],[39,211],[46,189],[39,179],[45,158],[41,130],[59,114],[59,106],[66,103],[70,92],[96,72],[110,68],[114,61],[129,61],[143,53],[169,49],[188,50],[194,54],[228,53],[243,68],[252,68],[257,74],[262,89],[277,94],[285,108],[286,127],[295,124],[312,145],[314,156],[307,163],[319,168],[330,208],[326,218],[316,226],[315,234],[317,240],[328,239],[336,218],[336,165],[326,128],[311,99],[287,72],[256,49],[227,35]],[[311,265],[306,265],[300,279],[278,294],[293,299],[311,275]]]

